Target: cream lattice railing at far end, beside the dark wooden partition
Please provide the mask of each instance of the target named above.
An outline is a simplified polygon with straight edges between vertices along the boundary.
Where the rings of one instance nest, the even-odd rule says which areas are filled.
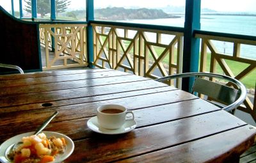
[[[86,24],[40,24],[43,70],[87,66]]]

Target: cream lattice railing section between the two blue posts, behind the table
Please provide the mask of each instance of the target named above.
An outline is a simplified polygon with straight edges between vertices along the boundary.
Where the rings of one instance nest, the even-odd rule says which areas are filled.
[[[182,32],[104,24],[92,26],[95,66],[152,79],[182,72]]]

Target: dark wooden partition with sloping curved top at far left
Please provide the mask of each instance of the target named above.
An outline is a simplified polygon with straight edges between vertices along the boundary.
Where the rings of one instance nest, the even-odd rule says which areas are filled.
[[[0,6],[0,63],[17,65],[26,72],[42,71],[37,22],[20,20]],[[0,74],[10,69],[0,68]]]

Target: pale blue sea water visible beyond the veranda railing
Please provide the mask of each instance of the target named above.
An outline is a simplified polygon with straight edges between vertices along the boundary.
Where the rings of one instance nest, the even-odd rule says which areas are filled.
[[[175,19],[143,19],[124,20],[122,22],[133,22],[140,24],[156,24],[163,26],[184,27],[184,16]],[[256,17],[245,15],[202,15],[201,29],[221,33],[256,36]],[[214,41],[216,49],[227,55],[232,55],[233,43]],[[241,57],[256,59],[256,46],[241,45]]]

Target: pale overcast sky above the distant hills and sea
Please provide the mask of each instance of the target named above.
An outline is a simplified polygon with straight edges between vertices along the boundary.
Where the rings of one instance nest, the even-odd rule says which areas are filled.
[[[85,0],[70,0],[70,8],[81,9],[85,6]],[[14,0],[15,10],[19,9],[19,1]],[[94,0],[95,8],[106,8],[108,6],[131,7],[139,6],[145,8],[161,8],[167,5],[184,6],[185,0]],[[0,0],[0,5],[10,10],[10,0]],[[201,0],[201,8],[209,8],[217,12],[256,12],[256,0]]]

